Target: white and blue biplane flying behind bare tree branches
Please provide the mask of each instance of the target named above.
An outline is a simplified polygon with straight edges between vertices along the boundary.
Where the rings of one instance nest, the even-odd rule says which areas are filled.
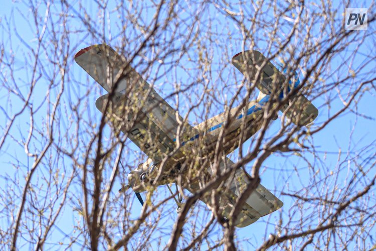
[[[243,51],[232,58],[232,64],[249,81],[254,81],[260,90],[257,100],[249,101],[245,106],[237,106],[229,112],[223,112],[193,127],[173,109],[127,60],[109,45],[99,44],[86,47],[76,53],[75,61],[108,93],[96,100],[96,107],[105,113],[114,129],[119,129],[147,156],[144,163],[128,174],[128,185],[119,191],[133,189],[143,205],[141,192],[147,191],[150,184],[167,185],[171,195],[177,195],[177,211],[182,207],[182,194],[178,186],[194,193],[201,187],[203,179],[214,177],[211,162],[221,128],[224,130],[222,151],[224,156],[233,152],[239,144],[254,135],[260,128],[260,117],[271,94],[279,92],[282,99],[291,90],[299,87],[297,74],[291,78],[287,90],[283,87],[286,77],[259,51]],[[261,74],[260,74],[261,72]],[[283,87],[283,88],[282,88]],[[294,103],[284,104],[280,110],[298,126],[306,126],[318,115],[317,108],[303,95],[293,96]],[[274,116],[273,119],[276,119]],[[245,126],[244,126],[244,123]],[[241,134],[243,130],[243,134]],[[203,147],[204,146],[204,147]],[[202,163],[184,165],[184,161],[199,155],[205,159]],[[234,163],[224,157],[219,164],[220,171],[229,170]],[[195,176],[200,172],[200,177]],[[177,176],[180,175],[179,182]],[[182,177],[182,178],[181,178]],[[203,178],[204,177],[204,178]],[[244,188],[249,183],[249,174],[238,169],[223,188],[220,189],[220,215],[229,220],[230,212]],[[169,184],[174,183],[174,194]],[[200,198],[209,208],[210,196]],[[279,208],[283,202],[261,184],[252,192],[243,205],[235,225],[248,226],[259,218]]]

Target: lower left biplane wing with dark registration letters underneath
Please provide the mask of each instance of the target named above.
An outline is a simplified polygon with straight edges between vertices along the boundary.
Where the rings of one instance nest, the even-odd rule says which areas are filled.
[[[106,103],[109,101],[108,96],[109,94],[101,96],[95,102],[101,112],[104,111]],[[161,161],[163,154],[173,150],[173,141],[146,114],[138,112],[135,119],[131,109],[125,105],[126,101],[124,94],[115,93],[112,102],[108,106],[107,116],[114,124],[114,127],[120,128],[124,134],[128,134],[128,138],[150,159],[155,162]]]

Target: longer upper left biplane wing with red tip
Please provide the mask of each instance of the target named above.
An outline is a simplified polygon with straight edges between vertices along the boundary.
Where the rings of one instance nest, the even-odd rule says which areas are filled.
[[[168,138],[175,138],[183,118],[110,46],[89,46],[75,55],[75,61],[108,92],[116,83],[114,92],[126,93]]]

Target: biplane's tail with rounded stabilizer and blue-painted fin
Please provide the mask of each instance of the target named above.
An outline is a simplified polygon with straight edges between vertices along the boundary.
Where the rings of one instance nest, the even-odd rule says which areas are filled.
[[[267,59],[259,51],[244,51],[236,54],[232,58],[233,65],[243,74],[248,73],[251,81],[254,81],[258,70],[262,67]],[[281,68],[282,69],[282,68]],[[286,70],[284,70],[286,72]],[[269,95],[276,89],[274,83],[279,84],[279,98],[284,97],[283,83],[286,77],[283,72],[278,70],[270,61],[268,61],[262,68],[261,80],[256,83],[256,87],[260,90],[258,99]],[[276,80],[276,81],[275,81]],[[299,85],[299,78],[295,72],[295,77],[289,81],[288,91],[296,88]],[[292,103],[291,101],[294,102]],[[306,126],[312,122],[318,115],[317,108],[303,95],[297,98],[292,97],[289,104],[285,104],[280,110],[292,120],[294,124],[299,126]]]

